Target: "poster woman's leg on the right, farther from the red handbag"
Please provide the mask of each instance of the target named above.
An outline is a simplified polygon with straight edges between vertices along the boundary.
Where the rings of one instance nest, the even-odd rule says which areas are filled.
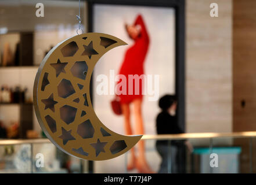
[[[134,103],[134,116],[135,116],[135,134],[144,134],[143,119],[142,119],[142,99],[135,99],[132,101]],[[139,172],[142,173],[152,173],[149,165],[147,165],[145,157],[145,143],[143,140],[138,142],[138,160],[136,161],[136,166]]]

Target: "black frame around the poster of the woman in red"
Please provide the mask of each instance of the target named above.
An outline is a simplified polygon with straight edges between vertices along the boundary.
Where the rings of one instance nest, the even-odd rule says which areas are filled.
[[[185,0],[87,0],[88,32],[93,32],[93,6],[131,5],[153,6],[175,9],[175,93],[178,99],[177,118],[180,127],[185,131]],[[93,79],[93,77],[92,77]],[[92,87],[91,79],[91,90]],[[92,99],[92,93],[91,101]],[[89,161],[89,173],[93,173],[93,161]]]

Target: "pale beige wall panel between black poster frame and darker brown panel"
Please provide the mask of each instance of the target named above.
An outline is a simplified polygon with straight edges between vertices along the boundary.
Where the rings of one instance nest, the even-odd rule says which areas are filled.
[[[186,132],[232,132],[232,1],[186,1]]]

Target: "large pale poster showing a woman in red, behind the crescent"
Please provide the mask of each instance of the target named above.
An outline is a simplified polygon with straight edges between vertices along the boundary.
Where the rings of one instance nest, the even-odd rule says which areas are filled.
[[[156,116],[160,112],[158,100],[165,94],[175,94],[178,97],[178,121],[184,128],[183,6],[177,5],[176,1],[165,2],[166,6],[161,6],[163,2],[158,3],[157,6],[154,6],[154,3],[149,1],[146,6],[140,1],[89,3],[89,31],[114,35],[128,43],[100,58],[93,71],[91,82],[92,102],[97,116],[108,128],[120,134],[156,134]],[[133,38],[129,25],[135,25],[139,30],[138,35],[144,39],[143,42],[139,43]],[[138,86],[136,80],[129,80],[129,75],[135,74],[143,75],[138,80]],[[127,94],[122,96],[117,95],[117,85],[120,82],[125,82],[125,90],[127,90]],[[134,84],[131,85],[129,82]],[[135,91],[139,88],[138,94],[135,91],[129,94],[128,88],[131,86]],[[120,90],[122,93],[125,92],[124,87]],[[114,114],[111,102],[117,97],[121,98],[121,104],[127,105],[129,121],[124,112],[121,116]],[[139,103],[136,99],[140,99]],[[138,116],[136,117],[138,107],[141,109],[139,119]],[[124,111],[126,108],[124,106],[121,109]],[[138,128],[140,127],[138,124],[143,128]],[[153,142],[145,147],[154,147]],[[157,168],[156,161],[160,162],[160,158],[157,154],[151,154],[151,157],[154,158],[155,164],[150,165],[152,168]],[[147,158],[150,161],[150,158]],[[112,160],[95,162],[95,172],[125,172],[124,156],[113,160],[118,162],[113,163]],[[110,164],[116,165],[114,168],[109,168]],[[101,167],[97,168],[99,165]]]

